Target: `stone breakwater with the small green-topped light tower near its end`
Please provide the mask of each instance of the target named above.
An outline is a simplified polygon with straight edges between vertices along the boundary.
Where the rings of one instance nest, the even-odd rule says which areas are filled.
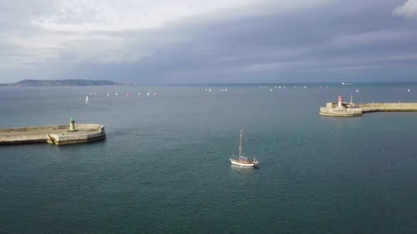
[[[0,129],[0,145],[8,144],[78,144],[95,142],[106,138],[104,125],[77,124],[75,131],[70,125],[50,125],[40,127],[19,127]]]

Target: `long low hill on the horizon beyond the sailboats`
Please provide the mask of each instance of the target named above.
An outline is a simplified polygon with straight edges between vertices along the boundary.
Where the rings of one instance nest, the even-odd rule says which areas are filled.
[[[93,81],[91,79],[25,79],[17,83],[7,83],[1,86],[32,87],[32,86],[120,86],[115,81]]]

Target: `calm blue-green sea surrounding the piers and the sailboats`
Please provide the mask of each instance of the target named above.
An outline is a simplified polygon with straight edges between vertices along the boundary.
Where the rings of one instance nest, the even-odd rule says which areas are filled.
[[[318,115],[339,94],[417,102],[416,83],[266,86],[0,88],[0,128],[107,133],[0,146],[1,232],[417,233],[417,113]],[[259,168],[230,165],[241,129]]]

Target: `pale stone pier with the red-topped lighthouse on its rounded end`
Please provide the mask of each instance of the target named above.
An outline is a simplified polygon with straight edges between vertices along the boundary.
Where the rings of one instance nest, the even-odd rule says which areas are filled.
[[[338,96],[337,103],[326,103],[320,107],[322,116],[355,117],[371,112],[417,112],[417,103],[344,103],[342,96]]]

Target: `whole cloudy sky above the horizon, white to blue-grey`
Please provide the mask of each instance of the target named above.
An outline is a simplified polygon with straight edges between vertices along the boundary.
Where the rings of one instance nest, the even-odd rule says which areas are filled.
[[[0,1],[0,83],[417,81],[417,0]]]

